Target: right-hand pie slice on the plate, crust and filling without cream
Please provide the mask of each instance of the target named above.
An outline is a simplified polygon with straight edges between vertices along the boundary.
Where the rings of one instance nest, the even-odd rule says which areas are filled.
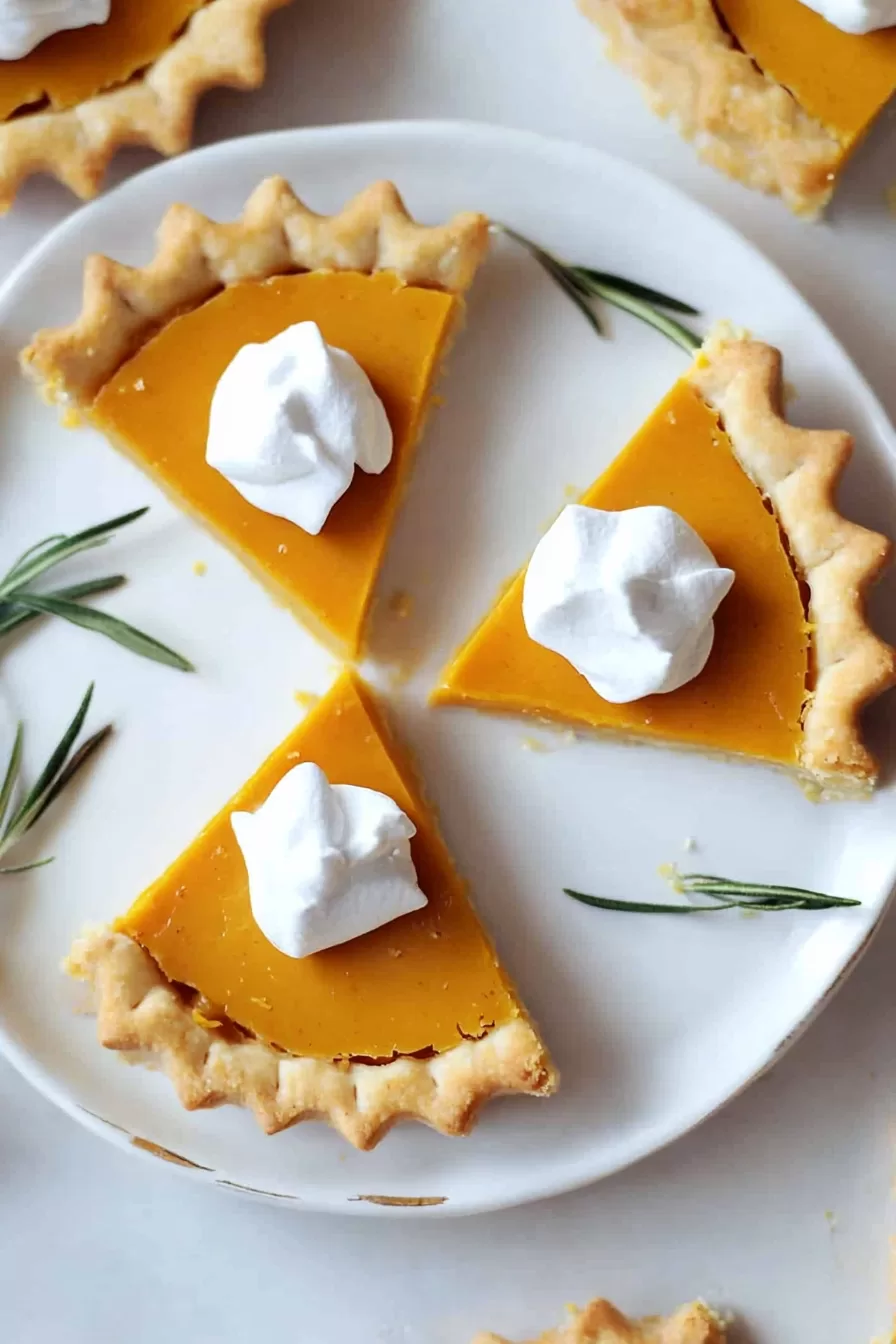
[[[677,691],[609,703],[529,638],[520,574],[433,703],[760,761],[814,796],[869,793],[879,769],[860,711],[893,684],[896,659],[868,626],[865,593],[891,543],[837,512],[850,453],[849,434],[783,419],[776,349],[717,329],[580,501],[673,509],[735,571],[704,671]]]

